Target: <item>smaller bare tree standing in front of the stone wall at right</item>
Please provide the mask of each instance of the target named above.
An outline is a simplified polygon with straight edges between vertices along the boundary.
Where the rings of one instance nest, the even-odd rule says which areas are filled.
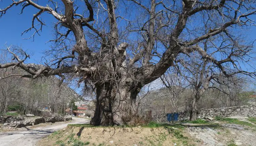
[[[222,43],[215,43],[215,39],[217,38],[211,38],[203,43],[204,51],[207,52],[207,54],[212,54],[213,56],[219,53],[223,53],[224,56],[228,55],[228,59],[223,60],[223,62],[226,62],[227,60],[229,60],[229,58],[232,57],[238,57],[238,59],[245,60],[248,57],[246,53],[252,49],[252,46],[250,45],[244,46],[239,44],[240,38],[236,38],[236,40],[233,40],[230,37],[224,36],[222,38]],[[227,45],[226,43],[228,41],[230,43]],[[212,52],[212,48],[216,48],[217,51]],[[225,50],[227,48],[230,48],[230,50],[232,50],[230,54],[226,54]],[[220,57],[223,56],[220,55]],[[243,63],[248,62],[250,61],[247,60]],[[183,76],[188,81],[190,88],[194,93],[191,99],[191,121],[197,119],[197,102],[208,89],[214,88],[216,90],[224,92],[227,95],[230,95],[231,92],[225,92],[225,90],[223,90],[223,87],[227,87],[228,89],[232,88],[234,84],[236,84],[239,80],[239,78],[237,78],[237,74],[242,73],[255,79],[255,73],[248,73],[246,71],[234,72],[234,69],[232,69],[232,67],[230,67],[229,65],[225,65],[225,69],[229,72],[232,72],[232,74],[227,75],[225,72],[219,70],[220,68],[218,68],[213,62],[201,57],[201,55],[197,53],[194,54],[193,58],[190,57],[187,61],[183,61],[181,64],[184,69],[183,74],[181,72],[181,76]],[[237,65],[234,62],[232,65],[233,68],[237,68]]]

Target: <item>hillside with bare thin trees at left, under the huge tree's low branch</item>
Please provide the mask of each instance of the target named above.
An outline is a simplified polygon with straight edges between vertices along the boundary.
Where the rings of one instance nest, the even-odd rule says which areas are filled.
[[[37,67],[34,65],[35,68]],[[23,71],[0,70],[0,77],[12,74],[26,74]],[[39,77],[36,79],[11,76],[0,80],[0,115],[7,111],[18,111],[39,115],[39,111],[47,109],[52,113],[64,113],[71,101],[80,101],[81,96],[61,83],[55,76]]]

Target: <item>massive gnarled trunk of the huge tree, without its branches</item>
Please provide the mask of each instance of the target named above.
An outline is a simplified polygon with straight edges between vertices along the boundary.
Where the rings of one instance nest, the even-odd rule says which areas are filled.
[[[130,91],[128,87],[105,84],[96,87],[96,109],[91,119],[92,125],[125,125],[136,115],[135,100],[139,90]]]

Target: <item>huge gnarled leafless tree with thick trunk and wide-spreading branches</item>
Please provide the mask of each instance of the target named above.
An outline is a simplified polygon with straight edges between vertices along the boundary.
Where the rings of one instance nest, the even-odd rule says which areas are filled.
[[[9,6],[1,6],[0,16],[18,5],[21,13],[29,7],[37,9],[31,14],[31,27],[23,32],[34,30],[30,38],[42,31],[47,19],[42,14],[56,19],[56,38],[46,52],[52,59],[36,69],[24,63],[28,54],[9,48],[16,61],[0,68],[22,68],[27,74],[19,76],[29,78],[72,76],[93,85],[97,94],[93,125],[128,123],[136,114],[141,88],[182,62],[184,54],[197,52],[225,76],[253,74],[240,68],[239,57],[250,52],[247,47],[212,48],[218,56],[201,48],[206,39],[233,38],[234,31],[253,25],[253,0],[10,0]],[[207,31],[204,21],[209,22]]]

